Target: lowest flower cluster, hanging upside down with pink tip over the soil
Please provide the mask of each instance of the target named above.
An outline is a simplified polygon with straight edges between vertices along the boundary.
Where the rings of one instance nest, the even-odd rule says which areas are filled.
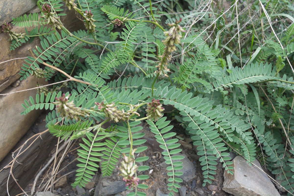
[[[133,177],[133,175],[138,170],[138,166],[134,165],[135,159],[133,158],[136,150],[137,149],[134,149],[129,157],[123,153],[124,160],[121,162],[121,166],[118,168],[121,171],[120,176],[123,176],[123,181],[126,182],[126,186],[128,186],[129,189],[136,188],[139,182],[138,177]]]

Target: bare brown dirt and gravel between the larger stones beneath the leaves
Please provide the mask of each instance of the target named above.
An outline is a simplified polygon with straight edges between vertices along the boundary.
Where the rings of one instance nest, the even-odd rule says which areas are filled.
[[[140,139],[147,139],[147,142],[143,145],[136,146],[136,148],[139,146],[148,146],[148,149],[136,155],[137,157],[149,156],[149,159],[147,161],[138,163],[138,165],[139,166],[148,165],[150,166],[150,168],[147,171],[139,172],[138,175],[149,175],[150,177],[147,180],[141,180],[139,182],[141,184],[148,185],[149,188],[139,189],[139,191],[145,192],[146,195],[148,196],[155,196],[156,190],[160,188],[161,193],[168,194],[168,190],[167,190],[168,176],[166,175],[168,171],[166,170],[166,165],[161,164],[165,161],[163,156],[160,153],[162,152],[162,149],[159,148],[158,146],[159,144],[156,141],[154,141],[156,138],[154,138],[154,134],[150,131],[149,125],[147,123],[143,123],[140,125],[143,126],[143,129],[139,132],[145,133],[144,138],[140,138]],[[183,181],[182,183],[179,183],[181,187],[186,187],[186,196],[191,196],[191,195],[193,196],[203,196],[203,195],[231,196],[230,194],[222,190],[223,172],[224,172],[224,170],[222,169],[222,164],[218,163],[217,165],[215,179],[212,181],[213,186],[209,186],[209,184],[207,184],[205,187],[203,187],[201,165],[198,162],[199,156],[194,150],[195,148],[193,146],[193,141],[190,138],[188,138],[188,135],[185,134],[184,129],[179,125],[174,124],[174,128],[171,131],[176,132],[177,133],[176,136],[181,137],[183,139],[179,141],[182,144],[180,148],[183,149],[181,153],[186,154],[188,159],[193,163],[194,167],[196,168],[195,177],[193,179],[191,179],[188,182]],[[174,136],[173,138],[175,138],[176,136]],[[79,148],[78,142],[81,142],[81,139],[75,141],[71,145],[71,148],[68,150],[69,153],[66,153],[64,160],[62,161],[59,167],[59,172],[57,173],[55,177],[54,189],[48,188],[47,186],[47,189],[46,189],[47,191],[52,191],[54,192],[55,195],[61,195],[61,196],[64,196],[64,195],[76,196],[78,195],[78,193],[81,194],[81,192],[77,192],[77,189],[76,188],[73,189],[71,186],[71,183],[73,183],[74,179],[76,178],[75,172],[73,171],[77,169],[76,164],[79,163],[76,160],[76,158],[78,157],[77,151],[76,151],[76,149]],[[52,155],[53,153],[54,152],[52,152]],[[116,169],[113,171],[113,174],[109,177],[104,177],[103,181],[113,182],[116,180],[122,180],[122,177],[118,176],[119,170],[117,169],[117,167],[119,167],[119,165],[116,166]],[[150,173],[150,171],[152,172]],[[101,174],[101,171],[99,169],[97,179],[100,174]],[[41,179],[38,180],[37,185],[39,185],[39,187],[42,187],[40,185],[42,183],[45,184],[46,181],[48,181],[50,175],[51,175],[51,170],[49,169],[41,175]],[[85,192],[83,193],[85,195],[89,195],[89,196],[94,195],[94,189],[95,189],[94,185],[98,183],[97,179],[95,182],[91,182],[90,183],[91,185],[88,185],[86,188],[84,188]],[[30,191],[31,185],[32,183],[30,183],[30,186],[26,187],[27,192]],[[45,189],[43,189],[43,191],[44,190]],[[121,192],[120,194],[122,196],[125,196],[129,192],[131,191],[126,190]],[[176,196],[180,196],[180,194],[177,192],[175,192],[174,194]]]

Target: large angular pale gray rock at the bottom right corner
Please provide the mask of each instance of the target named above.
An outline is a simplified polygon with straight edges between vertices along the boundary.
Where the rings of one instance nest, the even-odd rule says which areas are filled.
[[[260,169],[257,160],[253,162]],[[260,169],[249,166],[240,156],[233,159],[234,174],[224,172],[223,190],[235,196],[280,196],[268,176]]]

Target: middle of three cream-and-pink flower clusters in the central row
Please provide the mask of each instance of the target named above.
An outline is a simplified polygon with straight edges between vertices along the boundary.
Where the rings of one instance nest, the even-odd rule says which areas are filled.
[[[98,105],[99,110],[102,110],[105,113],[106,118],[110,118],[115,123],[128,120],[128,114],[124,111],[118,110],[114,102],[111,104],[104,104],[102,101],[101,103],[95,102],[95,104]]]

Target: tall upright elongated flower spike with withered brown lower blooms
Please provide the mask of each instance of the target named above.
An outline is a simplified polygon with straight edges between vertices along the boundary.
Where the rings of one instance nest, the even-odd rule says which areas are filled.
[[[158,64],[158,66],[156,66],[158,70],[155,72],[155,73],[159,73],[161,76],[168,77],[166,72],[169,71],[169,69],[167,68],[167,65],[168,65],[168,61],[171,60],[170,53],[176,50],[175,44],[181,43],[182,35],[179,33],[185,32],[185,30],[179,25],[181,21],[182,19],[180,19],[179,21],[176,20],[175,23],[168,24],[168,26],[170,26],[171,29],[164,32],[164,35],[167,37],[162,42],[164,43],[166,47],[164,49],[163,55],[159,56],[161,57],[161,61]]]

